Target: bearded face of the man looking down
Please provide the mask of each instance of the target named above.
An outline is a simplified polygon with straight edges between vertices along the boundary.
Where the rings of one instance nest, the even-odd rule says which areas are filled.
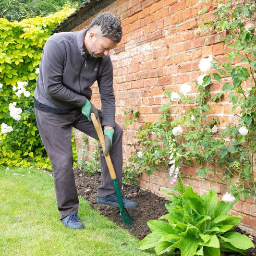
[[[114,49],[117,44],[118,43],[107,37],[102,37],[91,32],[88,43],[86,44],[86,49],[91,56],[94,58],[99,58],[104,55],[109,55],[110,50]]]

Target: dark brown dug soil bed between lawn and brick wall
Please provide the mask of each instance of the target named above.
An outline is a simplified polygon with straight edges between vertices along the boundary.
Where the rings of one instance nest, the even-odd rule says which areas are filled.
[[[165,204],[170,201],[164,197],[160,197],[149,191],[141,189],[137,185],[125,186],[122,188],[122,193],[126,198],[136,202],[138,207],[135,209],[128,209],[129,214],[134,219],[133,228],[130,229],[125,225],[119,215],[119,208],[99,205],[97,199],[97,188],[100,183],[100,173],[93,176],[87,175],[84,171],[74,170],[75,183],[79,196],[85,198],[89,202],[90,207],[100,212],[101,215],[111,219],[125,230],[129,230],[131,234],[142,240],[151,231],[147,226],[147,221],[151,219],[158,219],[160,216],[167,214]],[[243,232],[238,227],[234,231],[246,234],[250,237],[256,247],[256,237],[250,236],[248,233]],[[241,254],[225,254],[229,256],[241,256]],[[246,256],[256,256],[256,249],[249,249]]]

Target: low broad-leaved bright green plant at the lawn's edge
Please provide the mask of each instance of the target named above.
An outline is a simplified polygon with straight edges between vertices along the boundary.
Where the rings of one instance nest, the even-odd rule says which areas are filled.
[[[246,235],[232,231],[242,219],[228,215],[238,194],[235,200],[218,202],[214,189],[200,196],[192,187],[185,188],[180,178],[174,191],[165,191],[173,196],[166,204],[169,213],[147,222],[152,232],[141,241],[141,250],[155,247],[157,255],[220,256],[221,251],[244,254],[254,247]]]

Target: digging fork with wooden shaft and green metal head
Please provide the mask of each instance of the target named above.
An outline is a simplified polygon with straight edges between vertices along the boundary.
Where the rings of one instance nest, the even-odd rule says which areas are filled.
[[[102,132],[102,128],[101,128],[101,124],[99,121],[99,118],[96,118],[94,113],[91,113],[91,119],[93,122],[93,125],[95,127],[95,130],[98,134],[98,138],[99,138],[99,142],[101,144],[102,150],[103,152],[105,151],[105,140],[104,140],[104,134]],[[131,217],[131,215],[128,213],[128,211],[123,207],[123,202],[122,202],[122,194],[120,191],[120,187],[117,183],[117,178],[116,178],[116,172],[114,170],[111,158],[110,158],[110,153],[108,153],[107,156],[105,156],[105,160],[108,166],[108,169],[110,171],[110,177],[111,180],[113,182],[114,185],[114,189],[118,198],[118,203],[119,203],[119,207],[120,207],[120,216],[122,218],[122,221],[124,222],[125,225],[128,225],[130,228],[132,228],[133,225],[133,218]]]

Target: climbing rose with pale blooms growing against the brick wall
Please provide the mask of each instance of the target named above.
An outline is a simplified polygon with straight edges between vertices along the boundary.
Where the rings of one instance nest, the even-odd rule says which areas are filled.
[[[195,81],[195,94],[190,93],[187,84],[180,91],[165,92],[170,102],[159,109],[162,114],[158,122],[146,123],[139,131],[135,154],[126,170],[134,175],[146,170],[150,175],[159,165],[168,170],[173,164],[181,167],[193,162],[199,179],[207,179],[207,173],[214,172],[216,181],[228,185],[229,192],[255,197],[256,3],[230,0],[214,8],[214,19],[200,27],[214,35],[225,35],[219,40],[230,49],[228,61],[222,63],[212,55],[199,61],[203,74]],[[222,90],[212,93],[212,83],[220,83]],[[236,110],[231,113],[234,122],[227,126],[222,125],[218,115],[208,121],[209,113],[214,113],[212,106],[224,95],[232,111]],[[177,116],[171,113],[173,104],[188,107]],[[137,151],[143,157],[138,158]]]

